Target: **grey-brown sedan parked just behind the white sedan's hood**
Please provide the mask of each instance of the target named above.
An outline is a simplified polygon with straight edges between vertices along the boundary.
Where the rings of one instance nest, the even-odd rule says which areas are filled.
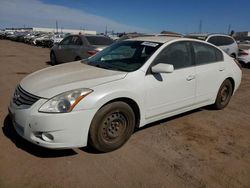
[[[70,35],[58,45],[54,45],[50,52],[51,64],[65,63],[88,58],[103,50],[114,41],[105,36]]]

